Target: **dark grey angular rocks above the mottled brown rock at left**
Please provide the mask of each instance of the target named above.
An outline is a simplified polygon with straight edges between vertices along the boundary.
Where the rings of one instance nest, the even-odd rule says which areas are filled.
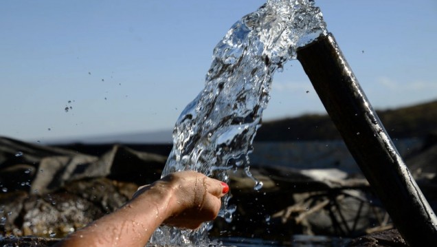
[[[166,159],[120,145],[96,157],[0,137],[0,193],[44,195],[90,178],[148,184],[160,177]]]

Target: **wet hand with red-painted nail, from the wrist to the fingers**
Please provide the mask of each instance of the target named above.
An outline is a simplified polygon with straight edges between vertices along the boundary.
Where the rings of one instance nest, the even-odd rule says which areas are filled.
[[[179,171],[142,186],[135,197],[146,193],[170,195],[164,224],[181,228],[198,228],[215,219],[221,207],[220,198],[229,191],[224,182],[195,171]]]

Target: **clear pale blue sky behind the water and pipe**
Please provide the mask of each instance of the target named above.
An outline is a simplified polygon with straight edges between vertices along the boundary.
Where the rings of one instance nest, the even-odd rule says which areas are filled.
[[[172,129],[216,43],[262,3],[0,1],[0,136]],[[374,108],[437,99],[437,1],[315,3]],[[264,120],[324,113],[300,64],[284,68]]]

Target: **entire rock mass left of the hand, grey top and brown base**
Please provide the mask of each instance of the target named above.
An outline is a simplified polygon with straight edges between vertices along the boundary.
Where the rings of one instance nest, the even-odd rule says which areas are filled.
[[[64,237],[122,206],[165,162],[119,145],[96,157],[0,137],[0,235]]]

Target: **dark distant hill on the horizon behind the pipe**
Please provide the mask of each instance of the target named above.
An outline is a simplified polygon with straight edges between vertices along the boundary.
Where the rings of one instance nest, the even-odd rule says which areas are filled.
[[[377,111],[391,138],[423,138],[437,131],[437,100]],[[255,141],[333,140],[341,136],[329,116],[309,114],[263,122]]]

